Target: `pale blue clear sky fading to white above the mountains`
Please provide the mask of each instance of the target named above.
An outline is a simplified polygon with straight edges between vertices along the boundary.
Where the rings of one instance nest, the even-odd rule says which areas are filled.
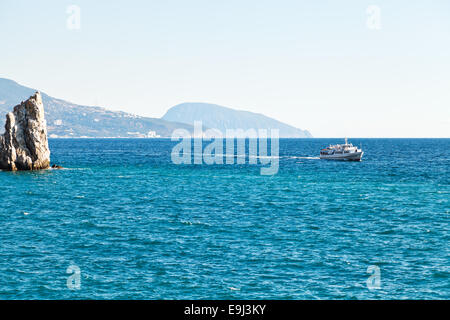
[[[0,77],[161,117],[182,102],[315,137],[450,137],[450,1],[0,0]]]

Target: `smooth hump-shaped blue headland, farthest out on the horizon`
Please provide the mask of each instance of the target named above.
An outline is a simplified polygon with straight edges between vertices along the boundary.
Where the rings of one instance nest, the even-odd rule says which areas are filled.
[[[279,129],[282,138],[311,138],[306,130],[297,129],[278,120],[259,113],[234,110],[209,103],[182,103],[172,107],[162,117],[167,121],[176,121],[193,125],[202,121],[204,127],[219,129]]]

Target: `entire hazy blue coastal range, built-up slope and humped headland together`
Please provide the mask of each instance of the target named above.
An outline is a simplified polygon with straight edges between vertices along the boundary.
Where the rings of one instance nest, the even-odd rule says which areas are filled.
[[[21,101],[39,89],[32,89],[0,78],[0,132],[5,116]],[[149,118],[102,107],[83,106],[53,98],[41,92],[50,138],[142,138],[170,137],[175,129],[193,132],[194,121],[203,129],[279,129],[282,138],[307,138],[311,134],[262,114],[234,110],[208,103],[183,103],[172,107],[161,118]]]

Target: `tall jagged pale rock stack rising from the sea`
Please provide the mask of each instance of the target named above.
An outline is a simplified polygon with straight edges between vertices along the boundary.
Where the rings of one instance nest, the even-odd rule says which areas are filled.
[[[44,105],[36,92],[6,115],[5,133],[0,136],[0,169],[39,170],[49,166]]]

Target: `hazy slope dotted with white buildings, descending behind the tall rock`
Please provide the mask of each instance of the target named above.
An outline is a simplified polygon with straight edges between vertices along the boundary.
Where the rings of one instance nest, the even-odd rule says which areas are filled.
[[[0,78],[0,133],[4,130],[6,113],[28,99],[35,91],[12,80]],[[147,137],[155,134],[170,137],[177,128],[192,132],[192,126],[184,123],[77,105],[42,92],[41,94],[50,137],[112,138]]]

